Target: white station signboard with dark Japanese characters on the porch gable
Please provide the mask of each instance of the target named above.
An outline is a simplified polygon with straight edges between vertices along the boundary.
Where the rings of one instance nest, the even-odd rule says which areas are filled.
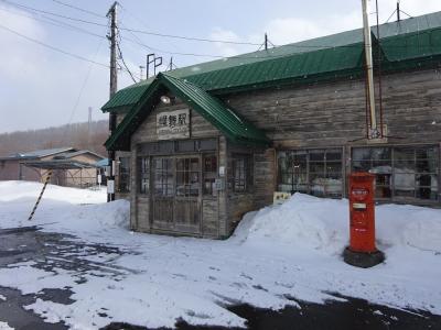
[[[189,109],[158,113],[157,134],[158,140],[189,139]]]

